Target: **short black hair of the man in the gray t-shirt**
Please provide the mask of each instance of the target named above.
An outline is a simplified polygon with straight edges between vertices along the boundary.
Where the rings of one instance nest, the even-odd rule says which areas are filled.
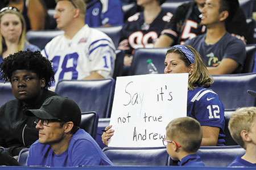
[[[220,12],[229,12],[229,16],[226,19],[226,22],[231,20],[234,17],[234,15],[236,15],[236,12],[238,11],[239,7],[240,5],[238,0],[220,0]]]

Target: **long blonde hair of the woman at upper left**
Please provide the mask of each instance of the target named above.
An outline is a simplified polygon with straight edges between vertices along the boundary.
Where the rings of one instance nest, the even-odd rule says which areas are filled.
[[[1,12],[0,14],[0,23],[2,22],[2,16],[5,14],[15,14],[19,17],[20,22],[22,23],[22,33],[19,37],[19,42],[18,42],[18,49],[16,52],[23,50],[24,48],[24,44],[26,41],[26,22],[22,16],[22,14],[19,11],[14,11],[14,10],[5,10],[3,12]],[[5,44],[5,38],[2,36],[1,32],[0,32],[0,54],[3,53],[3,47],[6,46]]]

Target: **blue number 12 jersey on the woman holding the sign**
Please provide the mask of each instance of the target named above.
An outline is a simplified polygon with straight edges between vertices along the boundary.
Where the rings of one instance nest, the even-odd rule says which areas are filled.
[[[201,126],[220,128],[217,146],[225,144],[224,105],[218,95],[204,87],[188,90],[187,116],[195,118]]]

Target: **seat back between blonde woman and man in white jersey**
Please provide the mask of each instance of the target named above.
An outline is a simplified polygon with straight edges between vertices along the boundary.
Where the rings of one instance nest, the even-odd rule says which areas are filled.
[[[61,30],[44,30],[44,31],[28,31],[26,39],[31,44],[38,46],[41,50],[44,46],[58,35],[63,34],[64,31]]]

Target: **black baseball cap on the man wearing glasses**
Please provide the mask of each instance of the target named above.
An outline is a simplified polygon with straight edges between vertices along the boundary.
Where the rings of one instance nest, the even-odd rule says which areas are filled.
[[[80,126],[81,111],[75,101],[68,97],[52,96],[46,99],[40,109],[28,109],[28,116],[36,116],[42,119],[60,119],[72,121],[74,125]]]

